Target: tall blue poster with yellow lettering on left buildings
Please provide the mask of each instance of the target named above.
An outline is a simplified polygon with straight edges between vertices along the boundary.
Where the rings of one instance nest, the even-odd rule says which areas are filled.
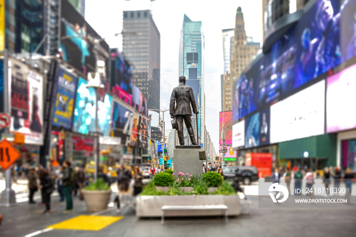
[[[59,69],[53,108],[53,126],[72,128],[76,85],[77,78],[75,76]]]

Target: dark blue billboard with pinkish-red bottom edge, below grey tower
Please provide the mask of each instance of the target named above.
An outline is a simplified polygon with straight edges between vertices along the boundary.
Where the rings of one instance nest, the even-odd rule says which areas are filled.
[[[110,90],[121,100],[132,105],[132,66],[117,49],[111,50]]]

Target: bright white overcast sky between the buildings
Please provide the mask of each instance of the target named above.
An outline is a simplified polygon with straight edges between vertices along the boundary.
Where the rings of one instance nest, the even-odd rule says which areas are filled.
[[[247,36],[262,41],[261,0],[86,0],[85,19],[110,47],[122,48],[122,38],[113,37],[123,28],[123,11],[152,9],[153,19],[161,34],[161,109],[169,109],[173,87],[178,82],[179,40],[186,14],[201,21],[205,36],[205,125],[219,151],[219,111],[221,111],[220,75],[224,72],[222,29],[235,26],[236,9],[244,13]],[[165,113],[166,135],[170,117]]]

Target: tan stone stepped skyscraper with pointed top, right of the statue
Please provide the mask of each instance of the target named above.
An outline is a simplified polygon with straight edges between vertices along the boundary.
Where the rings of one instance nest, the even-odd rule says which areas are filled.
[[[246,36],[244,14],[241,7],[239,7],[235,17],[230,70],[221,79],[224,80],[221,94],[222,111],[232,110],[233,82],[239,78],[242,70],[247,67],[253,56],[257,54],[259,46],[259,43],[253,42],[251,37]]]

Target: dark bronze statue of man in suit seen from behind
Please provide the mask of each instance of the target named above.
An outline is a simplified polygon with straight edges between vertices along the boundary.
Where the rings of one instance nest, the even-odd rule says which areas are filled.
[[[192,127],[192,110],[190,104],[192,104],[193,112],[198,114],[193,89],[186,85],[186,77],[180,76],[179,86],[173,89],[172,95],[170,96],[169,113],[172,119],[174,119],[175,116],[179,143],[181,145],[184,145],[183,120],[186,124],[192,144],[197,145]]]

